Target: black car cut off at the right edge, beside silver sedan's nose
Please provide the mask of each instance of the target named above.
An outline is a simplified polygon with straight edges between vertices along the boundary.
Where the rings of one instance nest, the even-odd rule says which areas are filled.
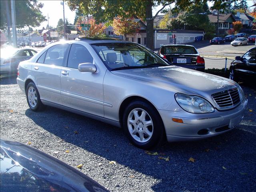
[[[230,65],[230,79],[256,82],[256,48],[251,48],[242,57],[236,56]]]

